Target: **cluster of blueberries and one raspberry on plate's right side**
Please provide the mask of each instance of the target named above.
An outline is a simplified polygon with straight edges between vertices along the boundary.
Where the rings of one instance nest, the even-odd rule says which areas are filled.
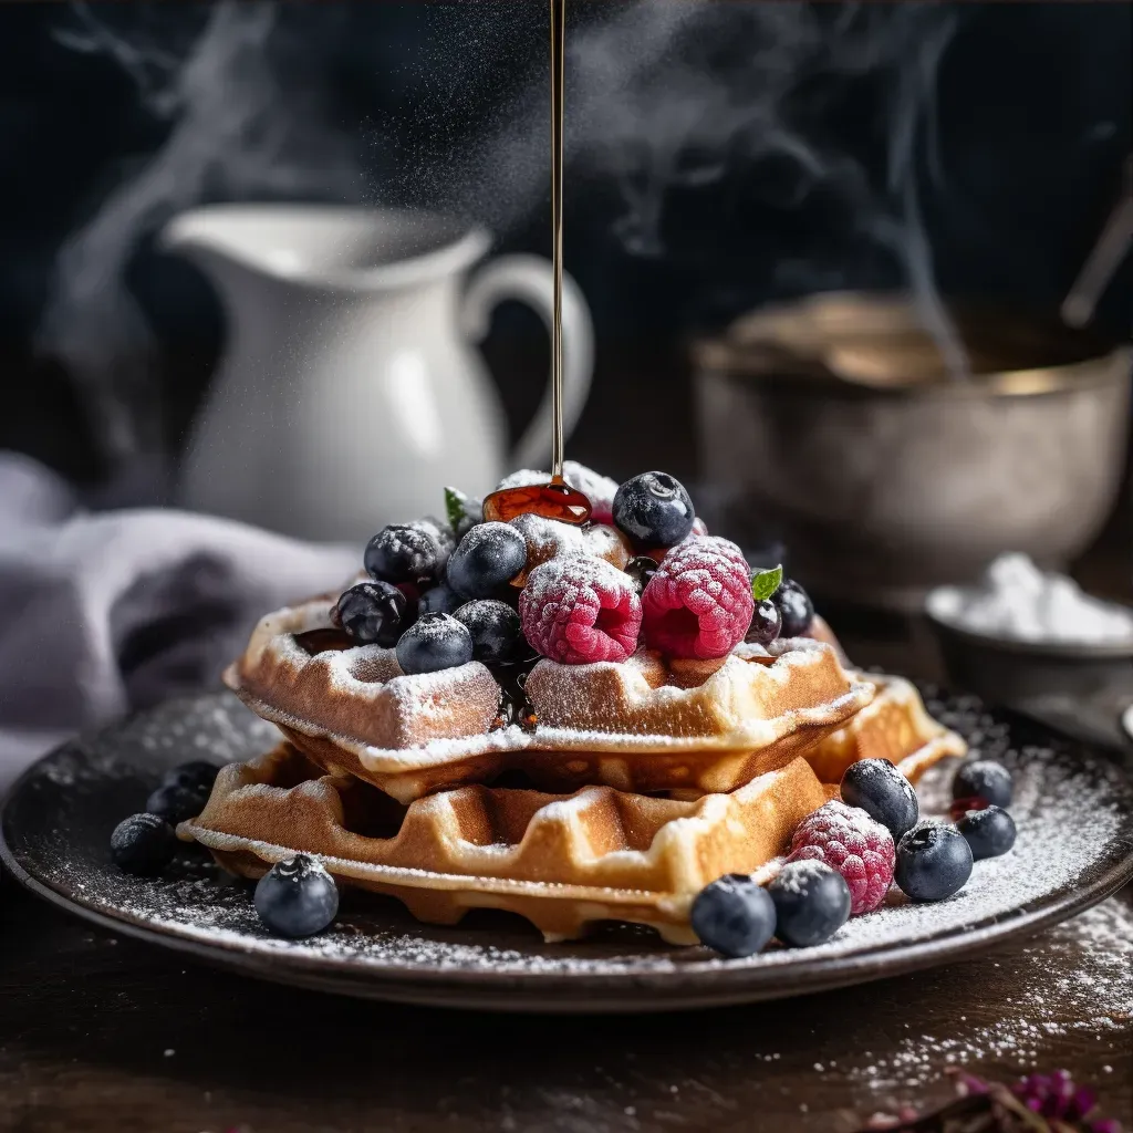
[[[851,764],[842,798],[798,825],[766,889],[738,874],[713,881],[693,902],[692,929],[725,956],[750,956],[772,937],[793,947],[828,940],[850,917],[879,908],[894,883],[910,901],[944,901],[964,887],[973,861],[1015,844],[1004,809],[1011,789],[1000,764],[962,764],[953,778],[960,820],[921,821],[917,793],[893,764]]]

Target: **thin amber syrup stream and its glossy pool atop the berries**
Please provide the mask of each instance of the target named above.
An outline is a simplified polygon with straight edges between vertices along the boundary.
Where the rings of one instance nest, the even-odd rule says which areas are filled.
[[[506,523],[535,512],[561,523],[585,523],[590,501],[563,479],[563,125],[566,105],[566,0],[551,0],[551,483],[503,488],[484,501],[484,518]]]

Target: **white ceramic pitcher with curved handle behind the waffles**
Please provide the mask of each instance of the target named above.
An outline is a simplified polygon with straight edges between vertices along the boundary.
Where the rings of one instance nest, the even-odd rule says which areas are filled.
[[[390,208],[218,205],[176,216],[161,239],[205,272],[228,317],[182,469],[185,506],[361,540],[443,516],[446,484],[480,495],[505,467],[546,467],[550,390],[508,458],[500,399],[471,343],[503,299],[550,326],[548,261],[504,256],[467,280],[486,230]],[[563,289],[570,429],[594,332],[578,287]]]

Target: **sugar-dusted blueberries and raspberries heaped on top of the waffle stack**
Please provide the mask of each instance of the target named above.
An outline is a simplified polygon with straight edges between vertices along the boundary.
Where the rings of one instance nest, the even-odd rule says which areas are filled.
[[[615,484],[574,461],[563,472],[589,501],[586,523],[486,520],[483,501],[445,488],[448,523],[394,523],[370,539],[372,581],[342,594],[334,625],[348,644],[395,649],[406,673],[514,665],[533,650],[565,665],[623,662],[642,646],[710,659],[810,629],[802,587],[780,569],[752,571],[734,543],[708,535],[675,477]],[[523,469],[496,492],[550,479]]]

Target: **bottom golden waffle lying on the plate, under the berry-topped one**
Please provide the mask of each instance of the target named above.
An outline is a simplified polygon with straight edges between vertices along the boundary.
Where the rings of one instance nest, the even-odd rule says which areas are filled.
[[[691,944],[697,893],[767,866],[829,795],[800,758],[693,802],[600,786],[568,795],[465,786],[401,808],[351,776],[321,775],[282,744],[225,767],[204,813],[179,833],[246,877],[317,854],[340,880],[395,896],[433,923],[489,908],[526,917],[548,939],[621,920]]]

